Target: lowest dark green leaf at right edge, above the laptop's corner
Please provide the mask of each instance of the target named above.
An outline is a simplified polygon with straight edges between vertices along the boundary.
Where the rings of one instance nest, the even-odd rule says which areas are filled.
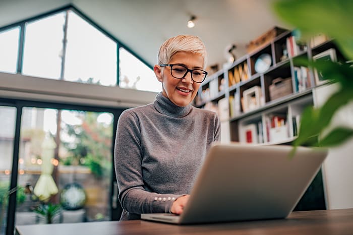
[[[353,137],[353,129],[338,127],[319,141],[321,147],[337,146]]]

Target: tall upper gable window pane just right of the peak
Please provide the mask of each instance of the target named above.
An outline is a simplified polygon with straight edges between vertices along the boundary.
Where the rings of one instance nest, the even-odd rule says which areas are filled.
[[[69,11],[65,80],[116,85],[116,42]]]

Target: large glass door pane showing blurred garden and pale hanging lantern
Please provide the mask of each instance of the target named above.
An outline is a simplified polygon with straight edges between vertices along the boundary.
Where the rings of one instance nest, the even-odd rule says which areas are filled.
[[[29,182],[34,196],[17,206],[16,225],[47,222],[32,208],[48,203],[62,206],[54,223],[110,219],[112,120],[105,112],[23,108],[18,182]]]

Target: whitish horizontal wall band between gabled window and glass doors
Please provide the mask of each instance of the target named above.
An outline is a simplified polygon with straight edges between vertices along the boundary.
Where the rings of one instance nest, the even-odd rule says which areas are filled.
[[[135,107],[153,102],[156,94],[135,89],[0,73],[0,97],[2,98],[88,106]]]

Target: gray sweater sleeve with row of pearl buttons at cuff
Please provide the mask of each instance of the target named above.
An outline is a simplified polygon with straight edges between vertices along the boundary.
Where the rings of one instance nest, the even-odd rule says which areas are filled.
[[[126,211],[134,214],[169,213],[171,204],[182,195],[148,192],[142,175],[143,150],[138,116],[124,111],[117,124],[114,164],[119,200]]]

